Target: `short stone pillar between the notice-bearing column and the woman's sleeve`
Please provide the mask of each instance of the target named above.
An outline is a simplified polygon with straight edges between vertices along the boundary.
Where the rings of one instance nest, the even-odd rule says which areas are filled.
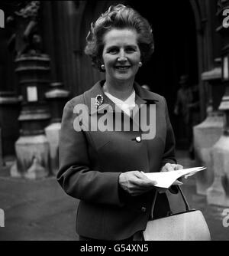
[[[45,128],[47,140],[50,145],[50,166],[52,174],[56,175],[59,169],[59,134],[63,107],[69,97],[69,92],[63,90],[62,83],[51,83],[51,89],[45,94],[50,105],[51,123]]]

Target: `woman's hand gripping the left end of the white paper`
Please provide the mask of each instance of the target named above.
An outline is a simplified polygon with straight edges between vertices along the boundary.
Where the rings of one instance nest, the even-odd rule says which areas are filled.
[[[139,171],[122,172],[119,176],[119,185],[132,196],[141,195],[156,185],[155,181],[148,179]]]

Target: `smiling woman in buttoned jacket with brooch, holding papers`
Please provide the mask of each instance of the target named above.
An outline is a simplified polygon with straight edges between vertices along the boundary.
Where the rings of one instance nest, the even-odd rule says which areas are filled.
[[[142,172],[182,168],[165,99],[134,81],[153,47],[148,21],[124,5],[111,6],[87,37],[85,53],[105,80],[66,103],[57,175],[65,192],[80,199],[80,240],[133,240],[147,225],[156,192],[156,182]],[[168,211],[160,193],[154,216]]]

